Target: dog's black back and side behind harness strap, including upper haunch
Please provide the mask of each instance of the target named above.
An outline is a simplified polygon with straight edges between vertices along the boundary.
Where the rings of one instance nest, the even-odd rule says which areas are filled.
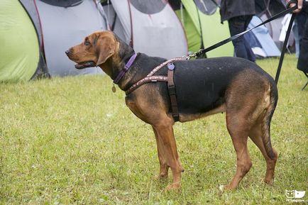
[[[237,81],[237,82],[236,82]],[[226,91],[234,84],[238,92],[255,92],[275,82],[258,65],[237,57],[175,62],[175,86],[180,113],[205,113],[226,102]],[[277,94],[274,94],[277,96]]]

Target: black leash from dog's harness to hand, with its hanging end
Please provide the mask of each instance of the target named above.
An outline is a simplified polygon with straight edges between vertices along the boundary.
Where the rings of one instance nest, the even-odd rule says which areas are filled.
[[[290,1],[291,2],[291,1]],[[292,3],[296,3],[295,1],[292,1]],[[288,4],[289,5],[289,4]],[[225,40],[221,40],[219,43],[216,43],[214,45],[211,45],[209,46],[208,48],[204,48],[204,49],[200,49],[198,50],[197,52],[194,52],[193,54],[191,55],[188,55],[186,57],[187,60],[189,60],[190,58],[192,57],[198,57],[199,55],[202,55],[206,52],[209,52],[210,50],[214,50],[215,48],[219,48],[221,45],[224,45],[226,43],[229,43],[230,41],[232,40],[235,40],[236,38],[239,38],[241,37],[242,35],[244,35],[245,33],[248,33],[249,31],[255,29],[255,28],[258,28],[259,26],[263,26],[265,23],[268,23],[270,21],[273,21],[275,20],[276,18],[280,18],[281,16],[285,16],[285,14],[287,13],[291,13],[292,11],[294,11],[295,9],[297,9],[297,5],[296,6],[293,6],[289,9],[286,9],[285,11],[282,11],[280,13],[277,13],[275,16],[273,16],[272,18],[268,18],[268,20],[266,21],[263,21],[263,23],[260,23],[259,25],[253,27],[253,28],[250,28],[246,31],[243,31],[242,33],[238,33],[236,35],[233,35],[231,36],[230,38],[226,38]],[[285,42],[283,43],[283,47],[282,47],[282,51],[281,51],[281,55],[280,55],[280,60],[279,60],[279,65],[278,65],[278,68],[277,68],[277,73],[276,73],[276,77],[275,77],[275,82],[276,84],[278,83],[278,79],[279,79],[279,75],[280,75],[280,71],[281,71],[281,67],[282,67],[282,61],[283,61],[283,58],[285,57],[285,50],[287,48],[287,40],[289,39],[289,36],[290,36],[290,32],[291,32],[291,28],[292,28],[292,24],[293,24],[293,21],[294,21],[294,18],[295,18],[295,13],[292,13],[292,17],[291,17],[291,20],[290,20],[290,24],[289,24],[289,27],[287,28],[287,34],[285,35]]]

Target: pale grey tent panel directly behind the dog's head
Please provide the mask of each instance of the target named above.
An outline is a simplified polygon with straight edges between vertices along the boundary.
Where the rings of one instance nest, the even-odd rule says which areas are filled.
[[[67,58],[65,50],[77,45],[84,37],[106,30],[104,16],[94,1],[83,1],[73,7],[60,7],[36,0],[43,29],[45,58],[51,76],[102,73],[100,68],[75,69],[75,63]],[[87,13],[87,15],[83,15]]]

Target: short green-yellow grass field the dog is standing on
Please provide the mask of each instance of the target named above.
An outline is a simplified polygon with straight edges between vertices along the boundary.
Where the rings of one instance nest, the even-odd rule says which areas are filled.
[[[308,191],[308,88],[301,91],[307,79],[296,62],[285,57],[278,84],[275,184],[263,183],[265,161],[249,140],[253,167],[222,196],[219,185],[236,170],[224,114],[176,123],[185,173],[181,192],[165,192],[171,179],[153,179],[153,131],[126,108],[123,92],[111,92],[109,77],[0,84],[0,204],[286,204],[285,189]],[[272,76],[277,63],[258,61]]]

